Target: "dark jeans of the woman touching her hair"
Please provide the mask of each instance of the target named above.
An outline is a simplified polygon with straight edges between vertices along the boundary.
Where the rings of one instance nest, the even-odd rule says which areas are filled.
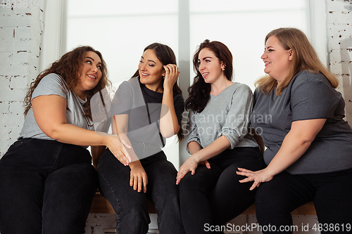
[[[151,200],[158,214],[161,234],[182,234],[177,171],[166,160],[163,151],[140,160],[148,176],[146,193],[138,193],[130,186],[130,167],[125,167],[110,150],[98,163],[99,190],[116,213],[116,233],[144,234],[149,229],[146,199]]]

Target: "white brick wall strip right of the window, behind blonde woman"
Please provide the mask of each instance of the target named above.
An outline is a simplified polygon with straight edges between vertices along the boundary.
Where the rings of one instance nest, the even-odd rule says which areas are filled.
[[[339,78],[346,101],[346,120],[352,126],[352,1],[325,0],[330,70]]]

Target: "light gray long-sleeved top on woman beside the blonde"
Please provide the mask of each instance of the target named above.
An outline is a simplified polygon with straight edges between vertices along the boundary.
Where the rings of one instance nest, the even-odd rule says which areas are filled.
[[[217,96],[210,94],[210,100],[201,113],[189,110],[184,133],[187,145],[196,141],[206,148],[220,136],[226,136],[231,143],[230,149],[258,147],[249,134],[252,103],[253,95],[249,86],[237,82]]]

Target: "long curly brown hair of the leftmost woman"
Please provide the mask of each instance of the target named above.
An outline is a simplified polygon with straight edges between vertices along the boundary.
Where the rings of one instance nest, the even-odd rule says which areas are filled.
[[[24,104],[25,107],[25,116],[27,115],[30,108],[32,108],[32,93],[35,88],[37,88],[39,82],[47,74],[55,73],[60,75],[65,80],[65,88],[63,91],[70,91],[80,84],[80,72],[82,71],[82,63],[86,53],[92,51],[96,53],[101,59],[101,79],[99,83],[87,93],[87,102],[84,104],[84,117],[92,121],[92,112],[90,109],[90,99],[94,96],[95,93],[101,91],[101,89],[106,88],[106,86],[111,86],[111,82],[108,80],[108,69],[106,68],[106,63],[103,60],[103,56],[99,51],[94,50],[91,46],[78,46],[73,51],[65,53],[59,60],[56,60],[51,64],[49,68],[40,72],[37,76],[37,79],[30,84],[30,89],[27,91],[25,96]]]

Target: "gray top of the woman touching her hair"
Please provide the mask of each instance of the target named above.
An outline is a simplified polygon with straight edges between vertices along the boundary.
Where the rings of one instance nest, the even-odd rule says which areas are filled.
[[[178,93],[173,93],[173,99],[181,126],[184,99]],[[118,87],[111,103],[111,116],[129,115],[127,136],[131,142],[163,147],[164,138],[159,130],[162,101],[163,93],[146,88],[137,77],[133,77]]]

